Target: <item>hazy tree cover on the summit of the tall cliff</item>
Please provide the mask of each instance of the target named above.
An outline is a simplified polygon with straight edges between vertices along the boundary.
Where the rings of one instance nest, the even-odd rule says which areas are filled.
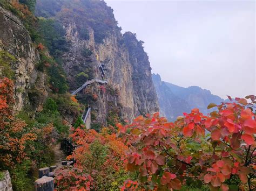
[[[103,43],[103,39],[117,28],[113,10],[106,6],[104,1],[38,1],[37,12],[39,16],[62,18],[63,23],[75,20],[76,29],[80,38],[89,39],[91,27],[94,32],[96,43]],[[118,29],[118,28],[117,28]]]

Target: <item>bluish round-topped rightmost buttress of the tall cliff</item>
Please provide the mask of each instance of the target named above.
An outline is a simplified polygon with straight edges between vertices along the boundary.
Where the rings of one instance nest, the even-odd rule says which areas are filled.
[[[156,112],[159,110],[157,94],[151,78],[149,56],[142,46],[143,41],[138,41],[136,35],[131,32],[126,32],[123,38],[132,66],[134,101],[139,114]]]

